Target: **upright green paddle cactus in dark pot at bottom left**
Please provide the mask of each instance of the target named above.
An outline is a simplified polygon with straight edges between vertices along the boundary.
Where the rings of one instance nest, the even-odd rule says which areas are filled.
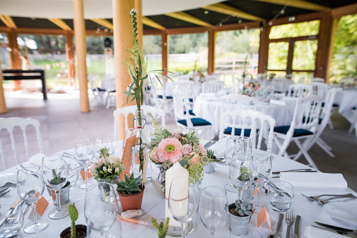
[[[68,206],[69,217],[71,218],[71,226],[64,229],[59,238],[84,238],[86,237],[86,225],[76,225],[75,222],[78,218],[77,208],[74,203]]]

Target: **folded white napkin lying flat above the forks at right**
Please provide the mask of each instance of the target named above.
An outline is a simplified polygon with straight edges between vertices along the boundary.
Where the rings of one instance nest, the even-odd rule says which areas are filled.
[[[291,183],[294,187],[347,188],[347,182],[342,174],[281,172],[280,180]]]

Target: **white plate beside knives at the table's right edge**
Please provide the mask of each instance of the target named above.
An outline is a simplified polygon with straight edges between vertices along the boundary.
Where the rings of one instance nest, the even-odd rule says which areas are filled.
[[[357,205],[348,202],[329,202],[333,209],[325,209],[327,215],[340,219],[341,221],[357,224]]]

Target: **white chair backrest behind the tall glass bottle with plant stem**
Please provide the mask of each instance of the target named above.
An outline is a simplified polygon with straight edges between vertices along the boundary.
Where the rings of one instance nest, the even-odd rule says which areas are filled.
[[[160,118],[161,118],[161,125],[165,127],[165,125],[166,125],[166,123],[165,123],[166,113],[165,113],[164,110],[162,110],[160,108],[156,108],[156,107],[150,106],[150,105],[141,105],[141,109],[144,111],[146,121],[151,121],[151,117],[149,115],[149,114],[151,114],[158,121],[160,121]],[[128,116],[129,116],[129,114],[135,115],[136,110],[137,110],[136,105],[130,105],[130,106],[127,106],[127,107],[124,107],[124,108],[118,108],[113,112],[113,116],[114,116],[114,140],[118,139],[118,117],[119,117],[119,115],[123,115],[124,116],[125,130],[126,130],[126,129],[129,128]],[[132,122],[130,121],[130,123],[132,123]],[[132,125],[132,124],[130,124],[130,125]]]

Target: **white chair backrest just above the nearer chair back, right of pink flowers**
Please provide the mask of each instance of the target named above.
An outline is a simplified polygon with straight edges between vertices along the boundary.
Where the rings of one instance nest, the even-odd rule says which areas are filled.
[[[221,113],[240,109],[257,109],[257,99],[242,94],[230,94],[221,97]]]

